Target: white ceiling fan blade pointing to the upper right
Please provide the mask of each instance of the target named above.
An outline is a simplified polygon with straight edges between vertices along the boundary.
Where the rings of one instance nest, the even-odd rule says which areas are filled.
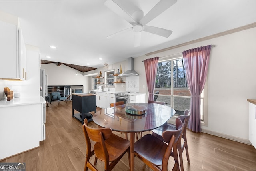
[[[177,0],[160,0],[145,16],[140,20],[142,25],[148,24],[151,20],[159,16],[162,12],[175,4]]]

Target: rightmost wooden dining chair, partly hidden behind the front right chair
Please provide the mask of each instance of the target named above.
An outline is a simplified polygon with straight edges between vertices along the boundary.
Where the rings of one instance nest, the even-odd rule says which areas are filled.
[[[190,118],[190,111],[188,109],[186,109],[184,111],[184,115],[180,115],[178,118],[180,118],[180,120],[183,123],[183,128],[182,128],[182,134],[178,140],[178,151],[179,151],[179,158],[180,158],[180,170],[184,171],[184,166],[183,166],[183,157],[182,157],[182,153],[184,151],[184,149],[186,150],[186,156],[187,156],[187,160],[188,162],[190,162],[189,160],[189,155],[188,155],[188,141],[187,141],[187,136],[186,136],[186,128],[188,126],[188,120]],[[166,130],[176,130],[176,125],[170,124],[170,123],[166,123],[164,125],[162,125],[161,127],[158,127],[157,129],[152,130],[152,135],[154,135],[155,137],[158,137],[159,139],[162,139],[162,133]],[[184,140],[182,143],[182,139]]]

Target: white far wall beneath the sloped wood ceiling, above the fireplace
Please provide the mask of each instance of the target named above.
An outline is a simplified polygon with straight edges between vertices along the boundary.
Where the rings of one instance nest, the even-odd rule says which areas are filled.
[[[88,93],[91,89],[91,77],[83,76],[73,68],[64,64],[58,66],[57,63],[41,64],[41,69],[45,69],[48,78],[48,85],[83,85],[84,92]],[[78,72],[76,76],[75,73]]]

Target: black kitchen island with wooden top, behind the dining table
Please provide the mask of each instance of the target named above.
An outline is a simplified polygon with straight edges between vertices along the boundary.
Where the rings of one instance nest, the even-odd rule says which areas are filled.
[[[94,111],[96,113],[96,94],[73,93],[72,97],[72,117],[80,120],[82,125],[85,118],[92,121],[92,114],[89,112]],[[74,114],[74,110],[80,113]]]

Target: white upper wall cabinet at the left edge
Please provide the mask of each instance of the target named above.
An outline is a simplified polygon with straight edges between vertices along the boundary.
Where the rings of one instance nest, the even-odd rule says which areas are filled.
[[[26,48],[18,25],[0,20],[0,78],[6,80],[26,79]]]

